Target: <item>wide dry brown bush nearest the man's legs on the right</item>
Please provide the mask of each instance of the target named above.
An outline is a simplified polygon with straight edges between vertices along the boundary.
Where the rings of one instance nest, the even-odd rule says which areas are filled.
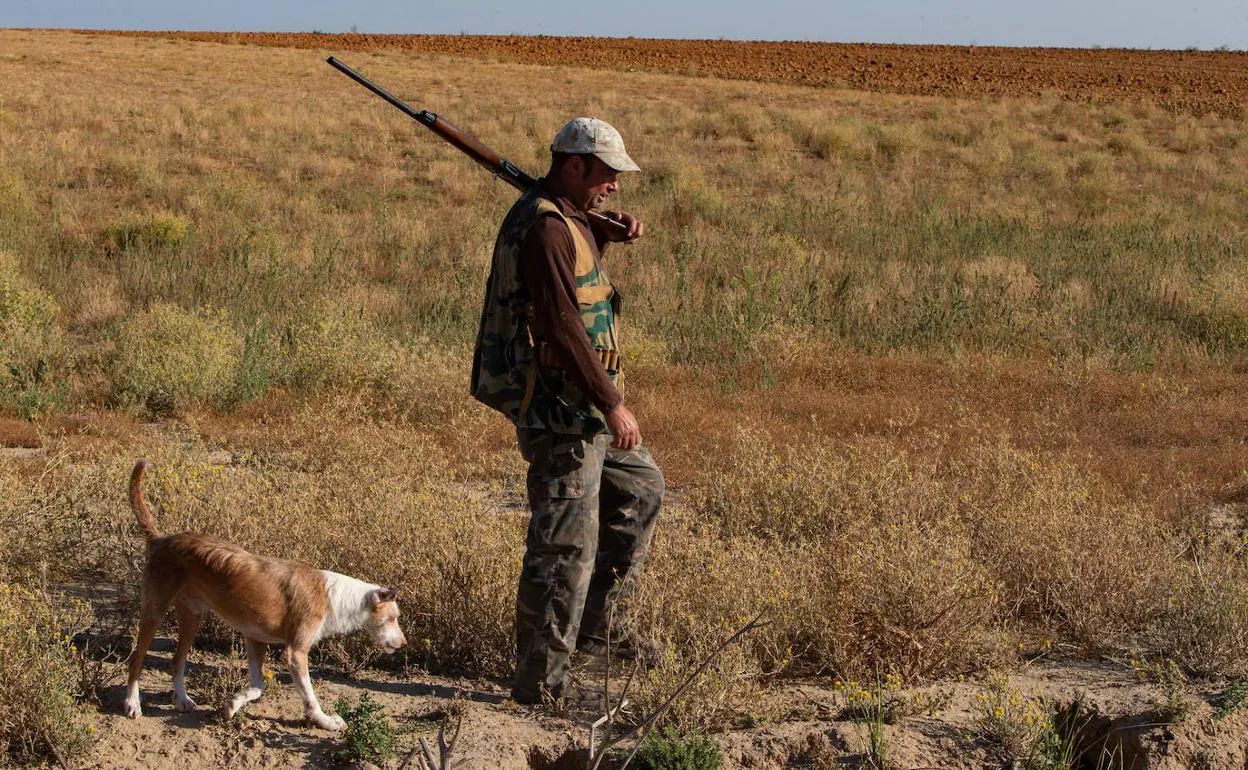
[[[766,555],[730,580],[703,569],[738,600],[744,575],[768,587],[778,616],[755,636],[778,636],[770,646],[792,671],[934,676],[1000,654],[997,579],[936,468],[879,442],[807,436],[781,451],[758,432],[724,463],[694,504],[708,530],[720,528],[716,549]]]

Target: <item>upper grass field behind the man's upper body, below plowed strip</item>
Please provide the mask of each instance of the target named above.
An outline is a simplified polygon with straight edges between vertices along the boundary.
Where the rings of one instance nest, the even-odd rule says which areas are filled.
[[[176,302],[283,332],[349,297],[384,337],[470,338],[510,191],[316,55],[5,35],[32,87],[5,100],[4,246],[71,327]],[[655,227],[615,276],[671,362],[775,367],[776,332],[1119,369],[1248,349],[1232,120],[358,56],[532,171],[565,115],[617,120],[646,158],[622,202]],[[532,77],[568,87],[505,101]]]

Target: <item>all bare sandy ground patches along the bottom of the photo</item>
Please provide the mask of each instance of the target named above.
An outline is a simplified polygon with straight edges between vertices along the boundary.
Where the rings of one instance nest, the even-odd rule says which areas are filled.
[[[185,768],[334,764],[339,739],[303,724],[298,694],[285,673],[278,673],[276,684],[245,715],[225,720],[215,708],[202,705],[212,695],[206,688],[225,681],[230,671],[241,676],[242,663],[196,653],[187,679],[191,695],[198,695],[201,706],[180,714],[170,705],[171,653],[171,640],[158,639],[149,656],[141,719],[121,715],[120,685],[106,690],[96,721],[100,740],[85,766],[129,770],[175,763]],[[276,663],[272,668],[281,671]],[[463,709],[463,728],[454,753],[456,768],[584,766],[582,751],[593,715],[555,715],[519,706],[508,699],[503,681],[377,670],[348,678],[323,669],[314,671],[313,679],[324,704],[342,696],[354,703],[367,693],[384,706],[401,734],[401,753],[389,766],[398,766],[421,735],[432,739],[438,716],[457,703]],[[1242,713],[1212,719],[1209,701],[1221,690],[1217,684],[1188,689],[1192,713],[1179,724],[1157,720],[1153,705],[1159,696],[1157,685],[1142,680],[1123,663],[1041,660],[1015,673],[1011,686],[1057,704],[1082,698],[1092,715],[1082,729],[1085,741],[1099,745],[1109,736],[1118,753],[1118,759],[1108,766],[1177,770],[1243,768],[1248,761],[1248,719]],[[1003,766],[991,746],[976,738],[977,696],[983,684],[948,681],[930,689],[950,693],[947,705],[936,714],[910,716],[885,726],[892,766]],[[837,719],[844,704],[830,683],[791,684],[769,698],[780,701],[780,710],[789,716],[718,735],[728,768],[860,766],[866,728]]]

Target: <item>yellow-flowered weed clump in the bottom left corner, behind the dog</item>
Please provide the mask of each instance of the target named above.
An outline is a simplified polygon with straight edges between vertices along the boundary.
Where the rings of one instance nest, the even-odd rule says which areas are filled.
[[[90,623],[81,603],[0,582],[0,764],[67,768],[90,748],[72,641]]]

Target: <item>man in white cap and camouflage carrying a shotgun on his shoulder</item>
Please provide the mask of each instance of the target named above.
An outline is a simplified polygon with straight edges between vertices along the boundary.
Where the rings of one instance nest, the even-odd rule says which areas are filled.
[[[494,243],[472,393],[515,423],[532,518],[515,600],[520,703],[560,699],[577,649],[605,651],[609,610],[636,580],[663,474],[619,391],[620,297],[599,257],[641,237],[626,212],[588,216],[639,171],[610,125],[569,121],[550,168],[507,213]],[[617,644],[615,636],[612,644]]]

